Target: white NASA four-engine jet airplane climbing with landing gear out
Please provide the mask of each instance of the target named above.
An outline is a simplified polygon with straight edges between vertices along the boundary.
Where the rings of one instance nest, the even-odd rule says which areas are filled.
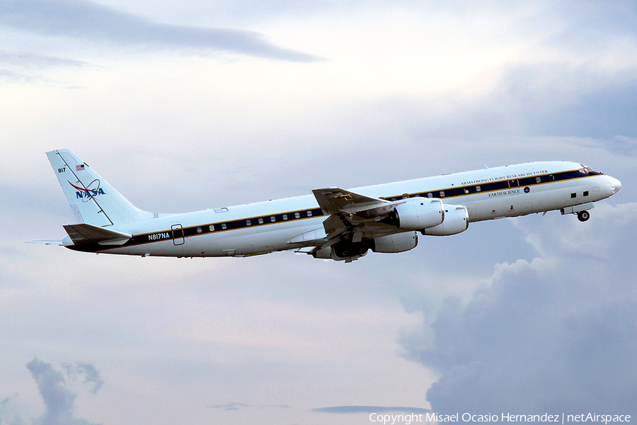
[[[450,236],[470,222],[559,210],[585,222],[621,182],[576,162],[529,162],[352,190],[183,214],[134,207],[69,149],[47,152],[75,223],[59,244],[74,251],[137,256],[254,256],[297,251],[351,261],[368,251],[414,249],[418,234]]]

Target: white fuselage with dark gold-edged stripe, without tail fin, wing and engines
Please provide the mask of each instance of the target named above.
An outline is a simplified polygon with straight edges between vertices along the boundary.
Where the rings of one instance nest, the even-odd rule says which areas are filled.
[[[586,210],[621,188],[616,179],[588,171],[574,162],[532,162],[352,191],[390,201],[440,198],[445,205],[464,205],[469,221],[478,222],[573,205],[585,205],[580,210]],[[325,237],[323,221],[327,217],[316,198],[307,195],[123,223],[116,229],[133,237],[122,246],[74,246],[68,237],[64,245],[80,251],[141,256],[250,256],[318,246],[317,240]]]

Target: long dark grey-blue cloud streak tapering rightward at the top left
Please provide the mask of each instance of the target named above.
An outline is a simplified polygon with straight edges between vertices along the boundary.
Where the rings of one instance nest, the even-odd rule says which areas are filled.
[[[226,50],[297,62],[318,59],[272,45],[259,33],[154,23],[88,1],[3,1],[0,4],[0,26],[45,36],[67,36],[120,45]]]

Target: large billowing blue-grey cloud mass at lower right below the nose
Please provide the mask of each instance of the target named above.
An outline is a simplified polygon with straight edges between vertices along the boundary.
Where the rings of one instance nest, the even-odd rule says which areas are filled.
[[[446,300],[431,336],[402,341],[441,374],[432,409],[637,414],[636,219],[637,204],[603,204],[587,224],[518,225],[541,256],[497,266],[469,302]]]

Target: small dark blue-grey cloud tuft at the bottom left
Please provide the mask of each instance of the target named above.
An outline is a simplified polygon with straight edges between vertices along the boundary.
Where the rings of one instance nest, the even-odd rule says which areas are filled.
[[[76,375],[84,375],[84,382],[93,382],[95,393],[103,381],[99,373],[87,363],[78,363],[76,368],[62,365],[66,373],[56,370],[50,365],[34,358],[27,364],[28,370],[38,384],[38,390],[45,404],[45,412],[34,421],[34,425],[91,425],[86,419],[74,417],[75,399],[77,394],[69,390],[68,380],[74,380]]]

